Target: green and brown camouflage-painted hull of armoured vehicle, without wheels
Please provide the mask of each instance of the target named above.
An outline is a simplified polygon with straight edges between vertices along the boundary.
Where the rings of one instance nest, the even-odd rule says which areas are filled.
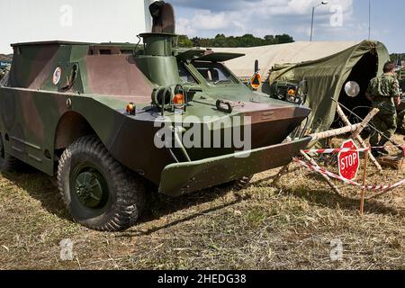
[[[152,44],[138,48],[62,41],[13,45],[13,65],[7,81],[0,85],[0,132],[6,153],[54,175],[64,148],[80,137],[96,134],[122,165],[160,185],[161,193],[179,195],[284,165],[308,144],[310,139],[279,145],[309,115],[309,109],[255,93],[231,72],[232,83],[209,84],[195,65],[217,64],[238,55],[205,50],[170,50],[158,55],[159,38],[165,42],[171,37],[145,35],[147,43],[149,38],[157,40],[153,42],[156,49]],[[180,66],[195,83],[182,81]],[[187,94],[184,117],[194,116],[198,121],[193,124],[211,133],[212,121],[204,120],[205,116],[251,117],[250,157],[236,160],[236,148],[187,148],[189,162],[182,151],[174,149],[180,159],[177,163],[168,148],[155,146],[160,129],[155,122],[174,125],[175,112],[165,111],[163,119],[152,96],[162,87],[178,84],[193,91]],[[217,100],[230,103],[232,112],[219,110]],[[126,112],[127,103],[136,104],[135,115]]]

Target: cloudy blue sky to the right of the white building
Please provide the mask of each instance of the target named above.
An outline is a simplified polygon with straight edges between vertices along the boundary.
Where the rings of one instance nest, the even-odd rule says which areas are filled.
[[[321,0],[172,0],[177,32],[191,37],[218,33],[288,33],[294,40],[310,40],[312,7]],[[371,0],[373,40],[391,52],[405,52],[405,2]],[[369,0],[331,0],[315,10],[314,40],[367,40]]]

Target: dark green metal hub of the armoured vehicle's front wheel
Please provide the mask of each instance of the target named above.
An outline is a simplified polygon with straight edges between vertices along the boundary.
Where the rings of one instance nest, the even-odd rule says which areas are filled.
[[[75,192],[79,201],[88,208],[100,208],[108,198],[108,188],[103,175],[94,169],[77,173]]]

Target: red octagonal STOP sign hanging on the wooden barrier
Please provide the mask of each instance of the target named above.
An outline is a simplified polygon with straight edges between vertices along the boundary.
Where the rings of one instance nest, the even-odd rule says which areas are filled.
[[[352,139],[343,143],[341,148],[358,149],[356,143]],[[340,152],[338,154],[338,163],[339,175],[347,180],[354,180],[356,178],[360,166],[360,155],[357,151]]]

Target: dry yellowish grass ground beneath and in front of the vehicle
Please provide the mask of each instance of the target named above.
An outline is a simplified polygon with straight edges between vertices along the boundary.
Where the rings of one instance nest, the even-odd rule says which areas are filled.
[[[4,175],[0,269],[405,269],[403,187],[366,202],[359,217],[357,201],[331,193],[316,175],[299,170],[279,188],[271,175],[239,193],[154,195],[139,225],[122,233],[72,223],[46,175]],[[371,179],[403,177],[388,170]],[[74,261],[59,258],[64,238],[74,242]],[[329,257],[333,239],[343,243],[342,261]]]

